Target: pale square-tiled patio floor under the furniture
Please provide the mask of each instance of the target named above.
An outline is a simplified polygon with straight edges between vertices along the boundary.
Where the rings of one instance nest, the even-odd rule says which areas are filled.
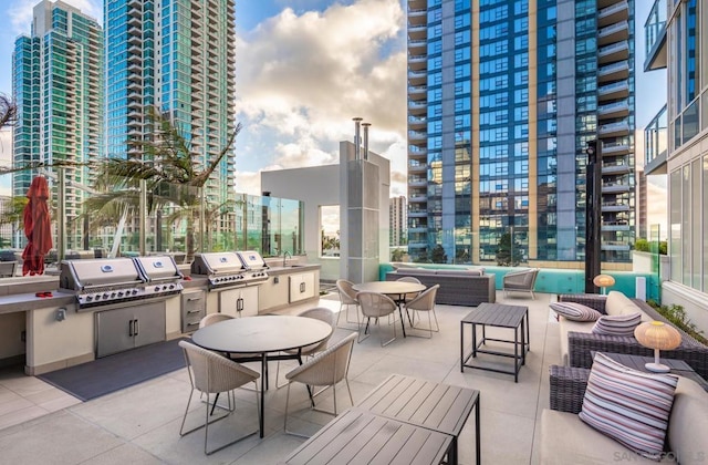
[[[459,368],[459,321],[471,309],[468,307],[437,306],[440,332],[433,339],[400,338],[385,348],[378,338],[366,339],[354,345],[350,369],[350,384],[354,401],[362,399],[391,373],[400,373],[477,389],[480,391],[482,463],[538,464],[538,418],[549,405],[548,366],[559,363],[559,335],[554,321],[549,318],[549,302],[555,296],[537,293],[531,300],[525,294],[503,298],[500,302],[528,306],[530,311],[531,351],[519,373],[519,383],[512,375]],[[335,294],[320,299],[320,306],[339,310]],[[312,303],[290,308],[299,313]],[[344,316],[342,327],[347,324]],[[389,330],[382,326],[383,329]],[[494,333],[488,329],[488,335]],[[339,328],[334,340],[350,333]],[[466,341],[471,338],[466,335]],[[508,344],[501,345],[502,350]],[[478,363],[509,363],[508,359],[479,355]],[[283,372],[294,365],[281,365]],[[282,431],[287,389],[275,390],[274,365],[270,370],[271,390],[266,397],[266,437],[253,435],[214,455],[204,455],[204,434],[195,432],[179,436],[179,424],[189,394],[186,370],[179,370],[136,386],[82,403],[71,395],[19,370],[0,370],[0,463],[52,464],[275,464],[295,450],[304,440]],[[342,391],[340,391],[342,390]],[[345,388],[337,390],[340,411],[350,406]],[[317,397],[317,405],[332,409],[331,391]],[[192,402],[192,411],[199,405]],[[250,391],[237,392],[237,409],[231,415],[210,427],[210,441],[228,442],[241,433],[258,427],[256,396]],[[291,388],[290,412],[293,430],[314,433],[332,416],[309,409],[306,391],[301,385]],[[202,421],[201,411],[188,418]],[[460,463],[475,461],[475,424],[468,421],[462,430]],[[214,434],[214,436],[211,436]]]

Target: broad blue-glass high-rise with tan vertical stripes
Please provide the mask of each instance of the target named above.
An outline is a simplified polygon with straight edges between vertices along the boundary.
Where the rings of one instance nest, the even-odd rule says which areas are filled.
[[[587,142],[604,262],[634,240],[634,1],[408,1],[408,252],[585,258]]]

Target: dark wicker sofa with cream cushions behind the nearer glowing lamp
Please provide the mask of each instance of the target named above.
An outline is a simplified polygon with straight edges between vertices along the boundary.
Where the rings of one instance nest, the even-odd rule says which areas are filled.
[[[639,299],[629,299],[618,291],[607,296],[600,294],[560,294],[559,302],[579,302],[603,314],[642,313],[642,321],[659,320],[671,324],[654,308]],[[645,348],[634,337],[603,335],[592,333],[594,321],[571,321],[559,317],[561,337],[561,360],[565,365],[591,368],[592,352],[626,353],[654,356],[654,351]],[[674,324],[671,324],[674,326]],[[674,350],[663,350],[662,358],[684,360],[698,374],[708,379],[708,347],[677,328],[681,343]]]

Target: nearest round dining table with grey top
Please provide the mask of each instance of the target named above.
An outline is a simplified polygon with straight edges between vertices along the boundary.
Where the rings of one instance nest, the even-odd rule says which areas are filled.
[[[322,342],[331,333],[330,324],[313,318],[267,314],[210,324],[195,331],[191,340],[204,349],[238,354],[239,363],[261,362],[259,427],[260,437],[263,437],[268,361],[298,360],[302,364],[302,348]]]

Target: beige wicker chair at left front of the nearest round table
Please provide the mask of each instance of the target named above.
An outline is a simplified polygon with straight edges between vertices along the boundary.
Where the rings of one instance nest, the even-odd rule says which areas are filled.
[[[253,382],[257,384],[256,380],[260,378],[260,374],[247,366],[240,365],[216,352],[211,352],[209,350],[202,349],[198,345],[195,345],[187,341],[179,341],[179,347],[183,348],[185,352],[185,361],[187,362],[187,372],[189,373],[189,382],[191,384],[191,390],[189,391],[189,400],[187,401],[187,406],[185,407],[185,415],[181,418],[181,425],[179,427],[179,435],[185,436],[191,432],[195,432],[200,428],[205,428],[204,432],[204,453],[210,455],[217,451],[222,450],[236,442],[239,442],[248,436],[251,436],[258,433],[258,430],[249,433],[247,435],[240,436],[227,444],[220,445],[216,448],[208,448],[209,442],[209,425],[211,423],[218,422],[219,420],[223,420],[233,413],[235,409],[231,406],[231,396],[229,399],[229,406],[227,413],[220,415],[216,418],[209,420],[209,416],[214,415],[214,409],[211,413],[209,413],[209,407],[211,403],[209,402],[210,394],[219,394],[221,392],[229,393],[237,388],[241,388],[244,384]],[[205,423],[196,426],[189,431],[185,431],[185,422],[187,420],[187,414],[189,413],[189,405],[191,404],[191,397],[195,391],[199,391],[202,394],[207,395],[207,402],[205,402],[206,406],[206,418]],[[256,405],[258,407],[258,389],[256,390]],[[216,399],[214,401],[216,403]],[[258,412],[258,415],[262,415],[263,412]]]

